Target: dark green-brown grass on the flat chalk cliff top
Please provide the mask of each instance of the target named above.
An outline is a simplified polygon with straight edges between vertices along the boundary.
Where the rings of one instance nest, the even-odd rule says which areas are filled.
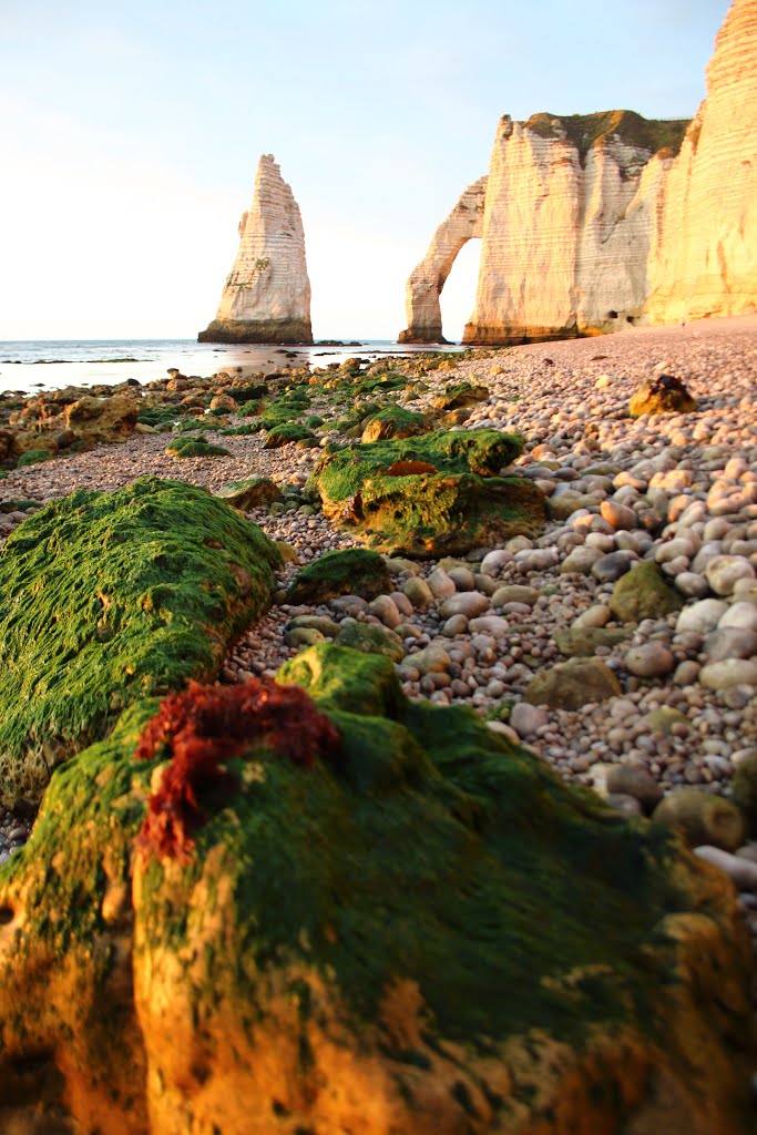
[[[630,145],[642,146],[650,153],[670,149],[678,153],[690,119],[644,118],[633,110],[603,110],[594,115],[550,115],[548,111],[532,115],[527,126],[540,137],[558,137],[553,119],[560,119],[567,141],[572,142],[586,160],[589,150],[602,138],[616,134]]]

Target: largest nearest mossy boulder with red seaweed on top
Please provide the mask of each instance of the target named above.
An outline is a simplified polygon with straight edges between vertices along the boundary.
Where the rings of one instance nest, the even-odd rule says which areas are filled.
[[[0,868],[9,1129],[31,1099],[113,1135],[745,1135],[718,872],[384,658],[279,678],[316,705],[197,688],[150,759],[154,701],[56,773]]]

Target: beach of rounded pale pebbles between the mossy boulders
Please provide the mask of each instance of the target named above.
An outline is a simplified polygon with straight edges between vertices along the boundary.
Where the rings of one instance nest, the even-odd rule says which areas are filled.
[[[631,395],[661,373],[685,384],[697,411],[630,419]],[[250,519],[297,562],[280,573],[268,614],[229,651],[220,681],[272,675],[308,642],[373,623],[399,645],[410,697],[470,706],[561,776],[609,793],[620,810],[642,813],[649,793],[656,802],[684,785],[727,797],[737,767],[757,754],[757,317],[466,353],[424,376],[409,406],[430,410],[451,380],[488,390],[457,428],[525,439],[512,472],[547,496],[541,533],[461,561],[393,560],[394,591],[371,603],[295,606],[285,589],[297,571],[355,541],[304,498],[253,510]],[[300,490],[323,445],[345,440],[330,424],[316,430],[312,448],[264,449],[259,435],[209,430],[229,455],[182,461],[165,452],[165,436],[135,432],[11,471],[0,501],[109,491],[144,474],[211,490],[267,476]],[[0,515],[0,537],[25,515]],[[647,563],[659,566],[680,608],[624,625],[611,608],[613,588]],[[602,662],[614,692],[579,708],[525,700],[535,676],[571,654]],[[6,815],[0,861],[28,824]],[[757,945],[757,843],[721,856]]]

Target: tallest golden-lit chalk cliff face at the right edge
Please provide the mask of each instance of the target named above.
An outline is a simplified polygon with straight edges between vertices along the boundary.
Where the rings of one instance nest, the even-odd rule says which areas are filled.
[[[649,263],[650,322],[757,308],[757,0],[735,0],[707,67],[707,98],[663,187]]]

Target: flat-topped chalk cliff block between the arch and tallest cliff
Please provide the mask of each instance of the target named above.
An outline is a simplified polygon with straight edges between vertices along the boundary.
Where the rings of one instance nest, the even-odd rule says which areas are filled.
[[[628,110],[535,115],[527,123],[505,116],[464,342],[533,342],[637,320],[648,292],[657,193],[685,126]]]

